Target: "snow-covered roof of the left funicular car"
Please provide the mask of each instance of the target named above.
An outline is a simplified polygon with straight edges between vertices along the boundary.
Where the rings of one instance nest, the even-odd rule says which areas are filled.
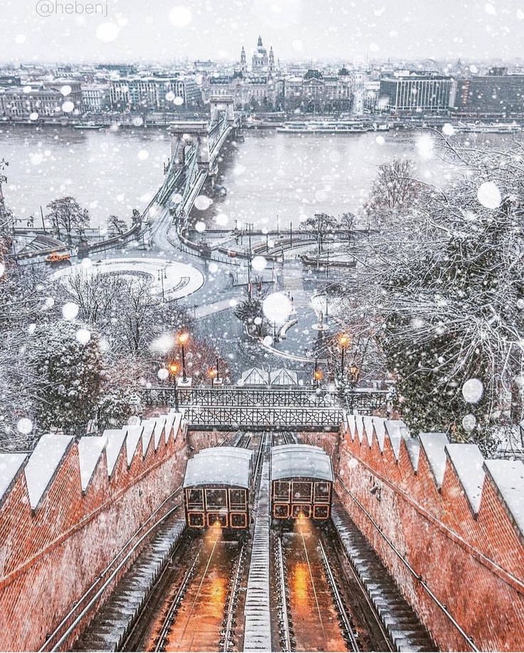
[[[184,488],[204,485],[225,485],[248,488],[251,479],[251,456],[232,456],[229,447],[214,447],[213,464],[211,454],[196,454],[187,461]],[[209,449],[204,449],[209,451]]]

